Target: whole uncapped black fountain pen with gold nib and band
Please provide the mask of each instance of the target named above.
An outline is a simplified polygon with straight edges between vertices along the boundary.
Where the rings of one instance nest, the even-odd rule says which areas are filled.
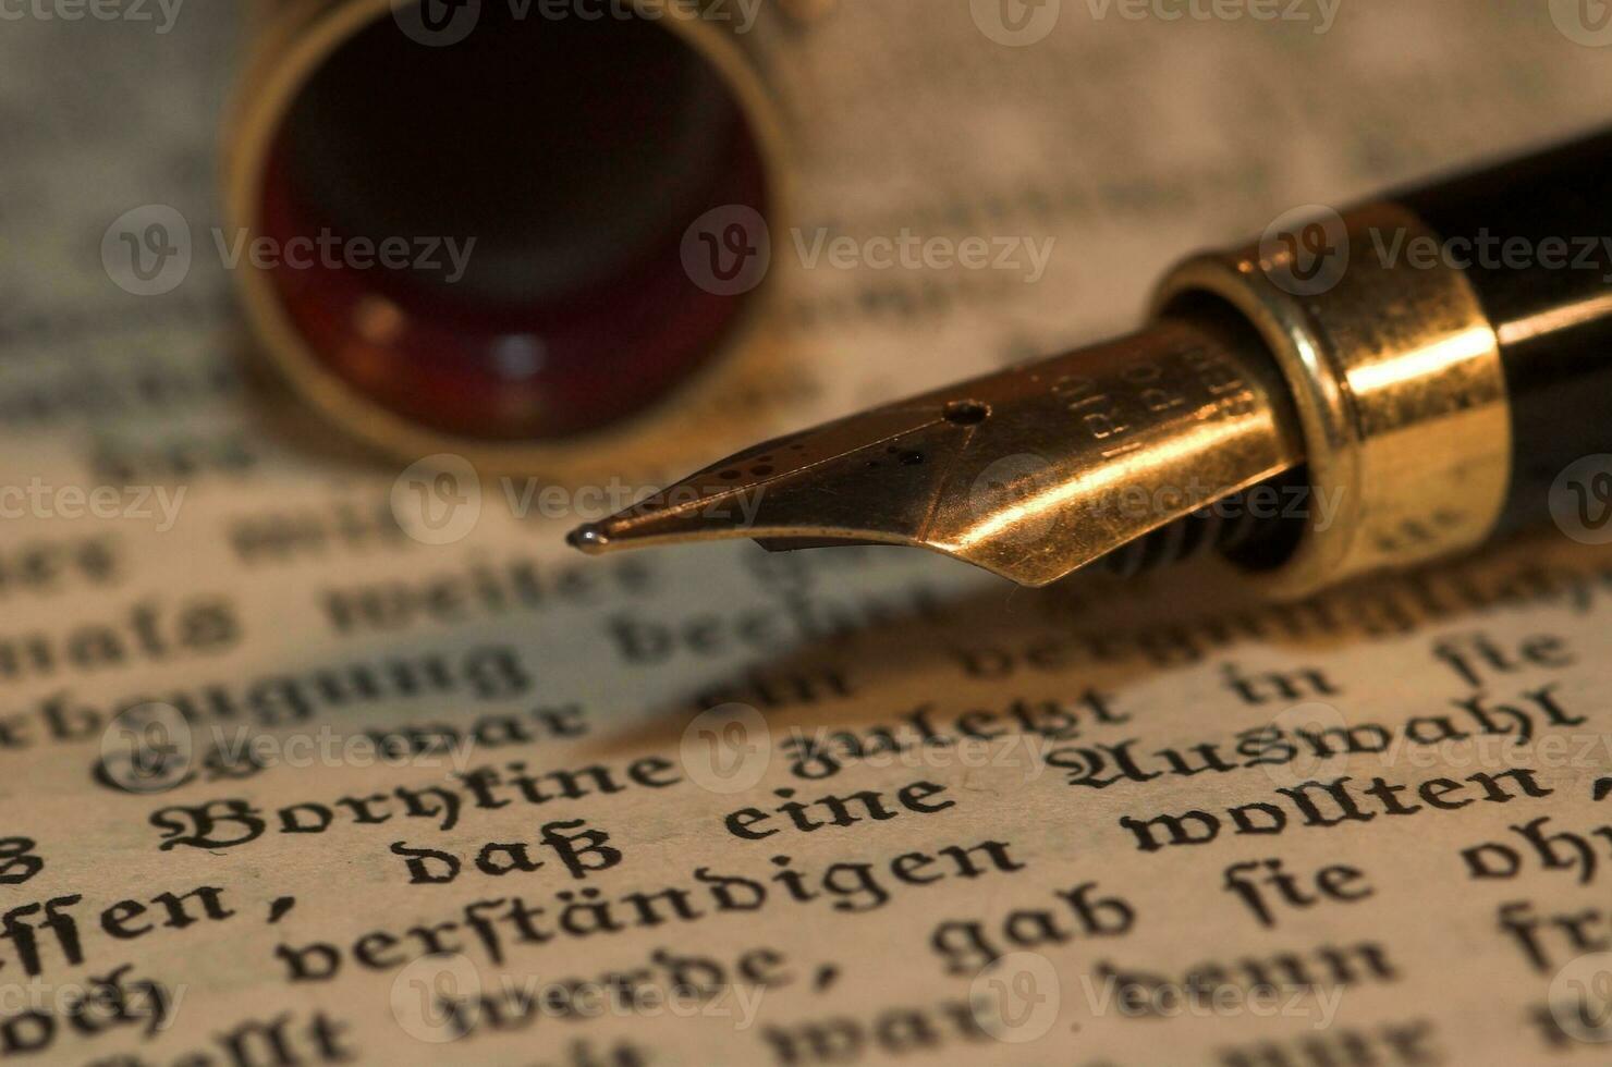
[[[758,445],[569,540],[911,545],[1020,585],[1214,553],[1306,596],[1562,522],[1586,463],[1565,495],[1599,529],[1609,248],[1612,131],[1278,219],[1182,261],[1128,337]]]

